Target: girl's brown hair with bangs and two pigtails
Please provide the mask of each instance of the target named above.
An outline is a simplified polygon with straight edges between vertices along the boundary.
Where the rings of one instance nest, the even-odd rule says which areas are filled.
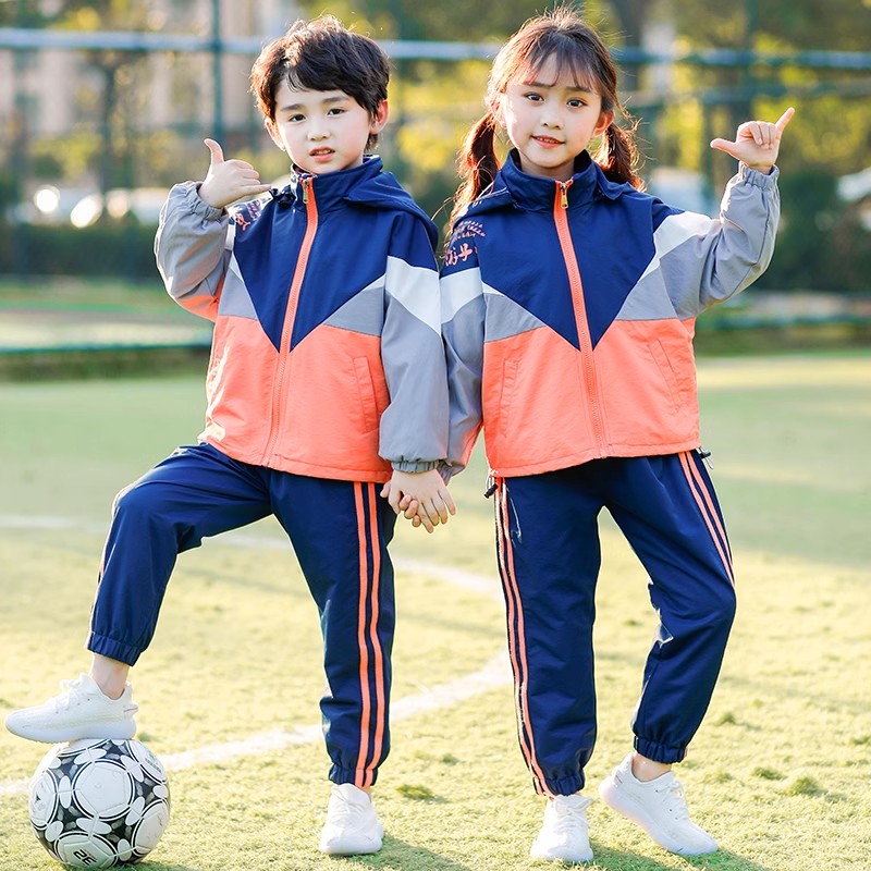
[[[517,79],[535,81],[536,73],[551,58],[560,73],[571,72],[577,84],[601,96],[603,112],[619,112],[629,120],[629,130],[612,121],[593,160],[612,181],[643,187],[636,173],[635,126],[617,99],[617,70],[611,53],[596,30],[573,9],[560,7],[526,22],[493,61],[487,87],[488,112],[468,132],[459,150],[457,164],[464,182],[454,197],[451,226],[466,206],[493,183],[499,171],[496,111],[508,84]]]

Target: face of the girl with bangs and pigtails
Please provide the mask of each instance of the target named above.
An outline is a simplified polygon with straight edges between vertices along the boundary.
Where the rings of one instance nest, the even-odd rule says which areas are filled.
[[[520,169],[530,175],[572,177],[575,158],[614,119],[602,111],[602,98],[547,60],[533,82],[515,79],[500,99],[498,115],[520,154]]]

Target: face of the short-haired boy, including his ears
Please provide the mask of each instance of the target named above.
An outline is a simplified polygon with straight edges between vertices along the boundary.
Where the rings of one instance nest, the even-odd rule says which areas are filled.
[[[370,134],[380,133],[387,120],[387,100],[372,119],[343,90],[297,90],[282,82],[275,120],[267,119],[266,128],[299,169],[322,175],[359,167]]]

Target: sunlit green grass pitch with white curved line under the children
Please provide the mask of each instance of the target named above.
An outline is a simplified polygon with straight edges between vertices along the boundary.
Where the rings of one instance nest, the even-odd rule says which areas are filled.
[[[682,859],[597,802],[593,869],[871,867],[871,354],[708,359],[706,445],[732,535],[739,613],[680,766],[721,850]],[[0,716],[86,667],[83,638],[115,491],[201,421],[200,378],[0,384]],[[139,737],[172,769],[172,821],[144,871],[514,871],[542,806],[515,737],[481,456],[461,513],[403,525],[394,555],[393,751],[373,857],[317,852],[329,784],[314,604],[271,522],[184,554],[133,673]],[[654,627],[608,519],[597,623],[594,785],[629,748]],[[27,823],[46,751],[0,733],[0,871],[58,868]]]

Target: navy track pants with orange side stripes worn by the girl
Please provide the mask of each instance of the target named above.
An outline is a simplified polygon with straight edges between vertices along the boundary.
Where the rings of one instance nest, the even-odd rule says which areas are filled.
[[[518,736],[536,789],[578,792],[596,741],[603,507],[647,569],[660,619],[633,717],[635,749],[680,761],[708,709],[735,615],[732,554],[701,457],[599,459],[496,484]]]

